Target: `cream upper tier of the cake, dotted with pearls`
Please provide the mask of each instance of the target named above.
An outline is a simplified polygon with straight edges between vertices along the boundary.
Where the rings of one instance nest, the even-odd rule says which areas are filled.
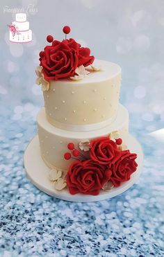
[[[47,119],[52,125],[74,131],[105,127],[117,114],[121,68],[113,62],[96,60],[101,70],[88,69],[83,80],[51,80],[44,91]]]

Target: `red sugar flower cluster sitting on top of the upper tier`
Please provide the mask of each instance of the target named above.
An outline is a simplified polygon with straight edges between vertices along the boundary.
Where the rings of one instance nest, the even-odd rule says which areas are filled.
[[[49,35],[49,42],[51,42]],[[95,57],[90,56],[90,49],[81,47],[74,39],[54,40],[40,52],[40,66],[45,80],[58,80],[74,76],[77,67],[87,67]]]

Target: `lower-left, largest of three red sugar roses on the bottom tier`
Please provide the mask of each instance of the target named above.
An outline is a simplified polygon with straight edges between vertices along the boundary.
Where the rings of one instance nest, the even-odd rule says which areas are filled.
[[[91,159],[74,161],[67,172],[67,186],[69,193],[83,193],[98,195],[99,190],[111,177],[111,170],[104,165],[95,163]]]

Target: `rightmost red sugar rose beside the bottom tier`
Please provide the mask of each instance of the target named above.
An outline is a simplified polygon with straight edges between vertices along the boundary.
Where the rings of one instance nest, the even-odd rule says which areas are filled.
[[[121,157],[111,166],[112,176],[110,180],[114,186],[120,186],[122,181],[128,181],[131,174],[136,171],[137,154],[132,154],[129,150],[121,151]]]

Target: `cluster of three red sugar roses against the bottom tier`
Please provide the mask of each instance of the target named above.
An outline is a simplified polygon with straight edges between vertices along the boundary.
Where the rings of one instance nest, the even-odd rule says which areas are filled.
[[[90,146],[90,159],[74,161],[69,166],[67,186],[72,195],[98,195],[108,180],[114,186],[120,186],[136,171],[137,154],[132,154],[129,150],[118,150],[117,144],[108,137],[91,141]]]

